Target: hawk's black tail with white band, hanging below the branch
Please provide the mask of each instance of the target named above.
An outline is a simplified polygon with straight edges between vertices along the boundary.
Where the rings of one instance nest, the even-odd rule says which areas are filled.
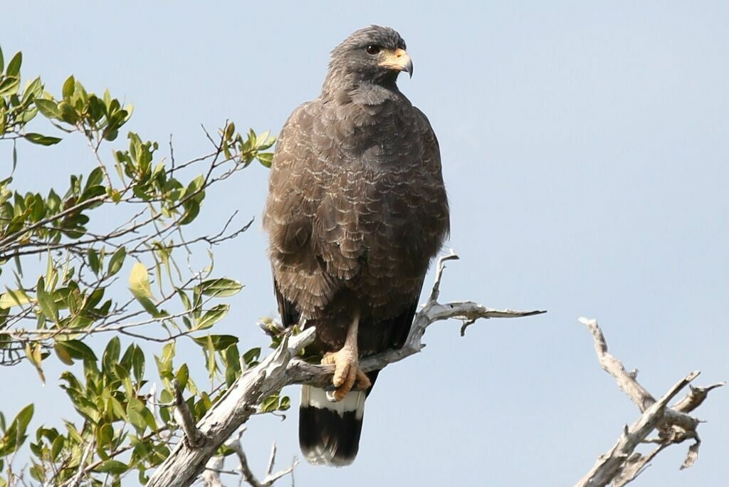
[[[324,389],[302,386],[299,445],[309,463],[343,467],[354,461],[366,396],[365,391],[350,391],[332,402]]]

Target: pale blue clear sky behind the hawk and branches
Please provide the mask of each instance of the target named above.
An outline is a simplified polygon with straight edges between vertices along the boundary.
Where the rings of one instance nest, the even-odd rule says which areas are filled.
[[[549,313],[478,322],[465,338],[459,322],[435,324],[423,354],[381,374],[354,465],[300,464],[297,486],[574,484],[639,417],[578,316],[599,319],[656,397],[692,370],[698,385],[729,378],[727,2],[12,2],[0,44],[6,59],[23,50],[24,77],[51,93],[69,74],[109,87],[135,105],[129,130],[163,145],[172,133],[184,160],[208,150],[200,123],[278,133],[319,94],[332,47],[370,23],[408,43],[415,75],[399,86],[440,139],[461,256],[443,300]],[[9,144],[0,160],[9,173]],[[78,140],[26,144],[15,187],[65,188],[94,165]],[[219,327],[241,349],[265,343],[255,322],[276,311],[267,177],[256,165],[219,187],[197,227],[235,209],[257,218],[216,249],[218,270],[246,284]],[[45,387],[31,365],[0,370],[0,410],[36,402],[33,428],[76,418],[47,367]],[[673,446],[636,485],[725,486],[728,410],[715,391],[696,413],[709,422],[695,466],[679,472],[688,445]],[[287,416],[249,423],[261,474],[273,440],[281,462],[299,455]]]

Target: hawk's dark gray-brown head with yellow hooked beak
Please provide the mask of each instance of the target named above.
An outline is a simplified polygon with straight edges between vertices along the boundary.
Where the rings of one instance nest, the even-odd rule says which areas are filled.
[[[354,34],[332,50],[330,73],[355,82],[394,82],[400,71],[413,76],[413,61],[405,51],[405,41],[389,27],[370,26]]]

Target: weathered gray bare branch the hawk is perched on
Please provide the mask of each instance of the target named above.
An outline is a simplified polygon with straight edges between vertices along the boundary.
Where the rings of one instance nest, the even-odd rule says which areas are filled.
[[[422,338],[425,330],[434,322],[446,319],[461,319],[470,322],[483,318],[516,318],[545,313],[545,311],[512,311],[486,308],[472,302],[446,303],[437,302],[440,294],[440,281],[445,268],[445,261],[457,259],[455,254],[441,257],[438,261],[436,278],[432,292],[424,308],[416,314],[410,329],[408,340],[399,350],[386,351],[362,360],[363,370],[381,369],[393,362],[410,357],[424,347]],[[311,365],[296,359],[299,351],[312,343],[314,330],[310,328],[299,335],[284,338],[273,354],[262,360],[259,365],[247,370],[238,378],[225,395],[216,402],[206,416],[197,425],[197,431],[203,435],[198,446],[181,441],[167,459],[157,467],[149,479],[147,487],[182,487],[190,486],[205,469],[206,463],[214,456],[219,445],[235,433],[241,424],[257,412],[257,405],[262,400],[284,386],[295,383],[312,383],[328,385],[332,380],[333,366]]]

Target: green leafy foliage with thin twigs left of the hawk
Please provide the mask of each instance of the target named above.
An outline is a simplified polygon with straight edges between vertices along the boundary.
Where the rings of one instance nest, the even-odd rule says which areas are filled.
[[[114,146],[113,160],[104,160],[101,148],[119,139],[132,106],[122,106],[108,90],[101,96],[88,91],[73,76],[58,97],[40,78],[21,89],[22,61],[18,52],[6,66],[0,51],[0,139],[12,144],[12,172],[17,144],[54,146],[61,136],[84,139],[95,167],[47,194],[15,189],[12,172],[0,181],[0,276],[14,283],[0,295],[0,364],[27,361],[45,381],[44,362],[58,360],[65,369],[62,388],[79,414],[61,428],[38,425],[33,434],[34,405],[12,420],[0,413],[0,487],[28,483],[25,472],[13,469],[26,443],[32,453],[27,473],[44,485],[120,485],[130,472],[144,482],[180,438],[174,383],[188,395],[197,420],[260,354],[252,348],[241,355],[238,338],[213,332],[230,309],[225,298],[242,286],[214,274],[210,248],[250,222],[229,230],[233,214],[216,235],[185,235],[211,187],[254,160],[270,165],[266,151],[274,139],[238,133],[226,122],[217,138],[206,132],[208,154],[176,164],[171,142],[169,157],[162,157],[157,142],[128,132],[125,147]],[[39,113],[61,136],[28,130]],[[199,246],[208,247],[208,265],[178,264]],[[24,274],[28,266],[38,274]],[[113,338],[98,357],[87,342],[104,333]],[[132,339],[123,351],[118,335]],[[182,338],[203,352],[207,389],[192,381],[187,363],[174,365]],[[147,366],[142,340],[163,344],[156,373]],[[288,398],[276,394],[260,410],[288,407]]]

